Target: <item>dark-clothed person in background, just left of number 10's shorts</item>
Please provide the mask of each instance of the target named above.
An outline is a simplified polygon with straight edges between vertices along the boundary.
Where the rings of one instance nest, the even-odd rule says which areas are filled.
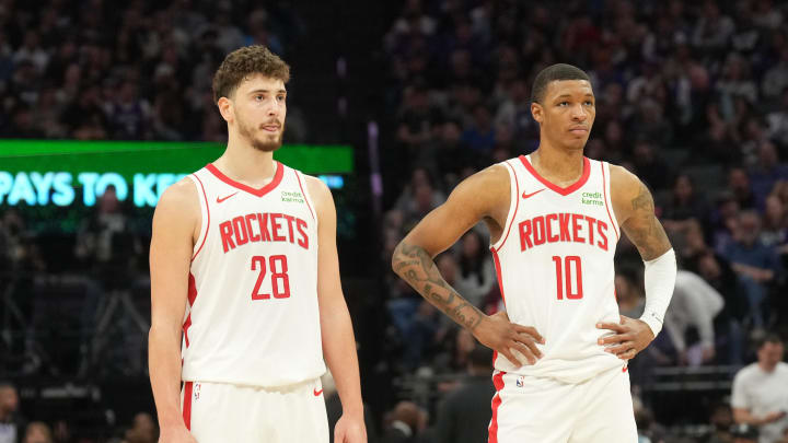
[[[490,381],[493,350],[483,346],[468,354],[468,377],[449,393],[438,410],[436,443],[475,443],[487,441],[490,409],[479,405],[495,394]]]

